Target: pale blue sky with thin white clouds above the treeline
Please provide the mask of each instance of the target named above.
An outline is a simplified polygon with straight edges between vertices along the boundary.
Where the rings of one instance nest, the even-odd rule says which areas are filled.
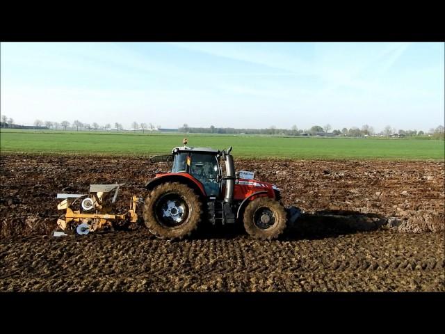
[[[164,128],[444,125],[443,42],[1,42],[1,114]]]

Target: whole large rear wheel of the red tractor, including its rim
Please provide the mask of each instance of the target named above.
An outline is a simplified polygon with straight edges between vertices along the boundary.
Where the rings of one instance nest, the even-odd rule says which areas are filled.
[[[145,225],[156,237],[182,239],[197,228],[201,206],[200,198],[185,184],[161,184],[145,198]]]

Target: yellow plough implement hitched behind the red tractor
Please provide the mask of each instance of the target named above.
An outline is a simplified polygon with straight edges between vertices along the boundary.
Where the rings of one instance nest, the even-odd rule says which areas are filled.
[[[64,219],[57,221],[58,227],[64,231],[73,230],[75,227],[78,234],[88,234],[105,226],[113,228],[112,221],[117,219],[136,223],[138,221],[136,207],[140,200],[137,196],[132,196],[130,208],[125,214],[111,213],[111,207],[122,185],[124,184],[90,184],[88,195],[58,193],[57,198],[63,200],[57,205],[57,209],[66,210]],[[108,195],[112,191],[114,191],[114,196],[110,200]],[[76,203],[79,209],[74,209],[73,205]]]

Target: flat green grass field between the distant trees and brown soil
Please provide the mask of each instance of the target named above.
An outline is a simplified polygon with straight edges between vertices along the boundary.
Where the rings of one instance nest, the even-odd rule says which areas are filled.
[[[236,157],[298,159],[438,159],[445,142],[407,138],[301,138],[282,136],[131,134],[1,129],[1,153],[169,154],[188,138],[190,146],[222,150],[233,146]]]

